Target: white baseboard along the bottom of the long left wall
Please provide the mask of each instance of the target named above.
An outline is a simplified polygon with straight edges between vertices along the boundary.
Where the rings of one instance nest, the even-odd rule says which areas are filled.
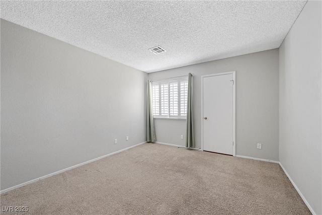
[[[74,165],[74,166],[72,166],[72,167],[68,167],[68,168],[66,168],[66,169],[59,170],[59,171],[54,172],[54,173],[50,173],[50,174],[48,174],[48,175],[45,175],[45,176],[42,176],[42,177],[39,177],[39,178],[33,179],[33,180],[31,180],[31,181],[27,181],[27,182],[24,182],[24,183],[22,183],[22,184],[18,184],[18,185],[13,186],[13,187],[9,187],[9,188],[7,188],[7,189],[1,190],[1,191],[0,191],[0,194],[5,193],[5,192],[8,192],[8,191],[10,191],[10,190],[17,189],[17,188],[22,187],[22,186],[25,186],[25,185],[27,185],[27,184],[31,184],[31,183],[34,183],[34,182],[36,182],[36,181],[39,181],[39,180],[42,180],[42,179],[48,178],[48,177],[50,177],[50,176],[57,175],[57,174],[59,174],[59,173],[65,172],[65,171],[67,171],[67,170],[71,170],[71,169],[74,169],[74,168],[76,168],[76,167],[80,167],[80,166],[83,166],[83,165],[85,165],[85,164],[88,164],[88,163],[91,163],[91,162],[94,162],[94,161],[97,161],[97,160],[100,160],[100,159],[103,159],[103,158],[109,157],[109,156],[111,156],[111,155],[118,154],[118,153],[123,152],[123,151],[125,151],[125,150],[128,150],[128,149],[131,149],[131,148],[134,148],[134,147],[140,146],[140,145],[142,145],[142,144],[145,144],[145,142],[146,142],[146,141],[141,142],[140,144],[136,144],[136,145],[134,145],[134,146],[131,146],[131,147],[128,147],[128,148],[125,148],[125,149],[119,150],[119,151],[117,151],[117,152],[113,152],[113,153],[110,153],[110,154],[107,154],[107,155],[103,155],[103,156],[101,156],[101,157],[99,157],[99,158],[95,158],[95,159],[92,159],[92,160],[90,160],[90,161],[86,161],[86,162],[84,162],[84,163],[77,164],[77,165]]]

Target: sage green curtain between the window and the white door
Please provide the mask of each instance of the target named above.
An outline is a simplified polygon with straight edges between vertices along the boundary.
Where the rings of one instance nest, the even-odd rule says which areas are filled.
[[[187,124],[186,124],[186,148],[195,147],[195,137],[193,129],[193,93],[192,93],[192,74],[188,76],[188,101],[187,101]]]

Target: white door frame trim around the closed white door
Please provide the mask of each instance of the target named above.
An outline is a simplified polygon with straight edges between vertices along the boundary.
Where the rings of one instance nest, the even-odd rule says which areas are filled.
[[[201,151],[203,151],[203,79],[212,76],[222,76],[232,74],[232,156],[236,156],[236,71],[227,71],[225,73],[215,73],[201,76]]]

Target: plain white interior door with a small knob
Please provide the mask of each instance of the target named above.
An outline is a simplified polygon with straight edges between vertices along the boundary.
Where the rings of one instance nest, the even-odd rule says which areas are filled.
[[[203,77],[203,150],[234,153],[234,73]]]

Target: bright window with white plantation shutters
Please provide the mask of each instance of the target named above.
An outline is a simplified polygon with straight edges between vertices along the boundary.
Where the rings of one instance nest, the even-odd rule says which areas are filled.
[[[152,82],[152,108],[156,118],[186,118],[188,77]]]

